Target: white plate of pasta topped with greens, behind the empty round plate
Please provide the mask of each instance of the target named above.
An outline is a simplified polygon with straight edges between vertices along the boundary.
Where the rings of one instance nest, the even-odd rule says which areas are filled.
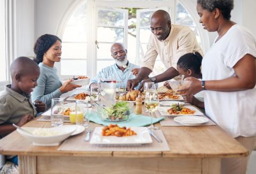
[[[180,116],[180,115],[204,115],[194,106],[184,106],[180,103],[174,103],[171,107],[159,107],[159,112],[163,116]]]

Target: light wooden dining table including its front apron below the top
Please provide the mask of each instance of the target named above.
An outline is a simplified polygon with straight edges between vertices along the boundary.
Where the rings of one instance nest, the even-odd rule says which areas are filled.
[[[135,105],[134,105],[135,107]],[[135,109],[134,109],[135,111]],[[143,115],[145,106],[142,106]],[[47,128],[49,121],[23,127]],[[65,125],[70,124],[65,122]],[[93,127],[100,127],[92,123]],[[0,154],[18,155],[19,173],[207,173],[218,174],[223,158],[244,158],[246,148],[218,125],[162,127],[169,151],[59,151],[59,146],[34,146],[17,130],[0,140]],[[86,135],[86,134],[84,134]],[[81,137],[84,138],[85,136]]]

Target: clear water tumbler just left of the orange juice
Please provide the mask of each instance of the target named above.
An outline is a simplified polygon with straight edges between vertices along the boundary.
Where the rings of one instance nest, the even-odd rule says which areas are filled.
[[[51,125],[53,127],[63,126],[63,114],[64,114],[63,98],[52,98]]]

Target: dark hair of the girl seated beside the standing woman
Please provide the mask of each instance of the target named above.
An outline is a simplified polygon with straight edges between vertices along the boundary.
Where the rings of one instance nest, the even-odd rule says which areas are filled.
[[[193,69],[195,73],[201,73],[202,55],[198,52],[182,55],[177,62],[180,68],[187,71]]]

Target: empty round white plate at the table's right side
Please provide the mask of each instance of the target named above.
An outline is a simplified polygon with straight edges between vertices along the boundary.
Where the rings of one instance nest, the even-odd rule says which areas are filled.
[[[178,123],[181,123],[182,125],[188,125],[188,126],[202,125],[203,123],[206,123],[209,121],[209,119],[205,117],[199,117],[199,116],[180,116],[180,117],[175,117],[173,120]]]

